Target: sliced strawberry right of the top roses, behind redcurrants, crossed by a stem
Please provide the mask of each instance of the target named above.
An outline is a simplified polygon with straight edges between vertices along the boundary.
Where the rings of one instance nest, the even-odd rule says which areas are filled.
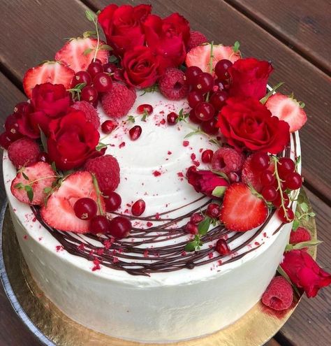
[[[211,45],[198,45],[198,47],[192,48],[186,55],[186,66],[198,66],[203,72],[209,72],[209,60],[210,60]],[[213,46],[213,68],[221,59],[228,59],[230,62],[235,62],[240,59],[240,53],[234,52],[233,47],[226,45],[214,45]]]

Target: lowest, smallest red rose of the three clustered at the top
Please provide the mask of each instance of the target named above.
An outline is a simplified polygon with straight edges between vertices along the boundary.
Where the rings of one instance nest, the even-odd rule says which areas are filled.
[[[125,52],[122,66],[124,67],[124,80],[132,87],[143,89],[154,85],[157,78],[158,64],[149,47],[135,47]]]

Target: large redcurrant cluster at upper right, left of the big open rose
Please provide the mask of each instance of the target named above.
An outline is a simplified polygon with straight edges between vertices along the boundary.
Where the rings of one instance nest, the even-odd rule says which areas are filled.
[[[186,82],[191,88],[187,99],[192,108],[189,119],[207,134],[216,134],[216,117],[228,99],[228,68],[232,62],[222,59],[214,68],[215,77],[203,72],[197,66],[190,66],[185,71]]]

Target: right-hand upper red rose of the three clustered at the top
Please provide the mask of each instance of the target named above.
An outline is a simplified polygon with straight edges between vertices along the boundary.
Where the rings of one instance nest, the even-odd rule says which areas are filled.
[[[152,49],[159,61],[159,73],[168,67],[177,67],[186,57],[185,47],[189,43],[189,22],[172,13],[161,19],[157,15],[149,15],[143,24],[146,43]]]

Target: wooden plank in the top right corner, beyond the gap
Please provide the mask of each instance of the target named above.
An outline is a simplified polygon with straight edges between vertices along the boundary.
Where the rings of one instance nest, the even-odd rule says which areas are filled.
[[[330,73],[330,1],[314,0],[226,0],[254,22],[265,28]]]

